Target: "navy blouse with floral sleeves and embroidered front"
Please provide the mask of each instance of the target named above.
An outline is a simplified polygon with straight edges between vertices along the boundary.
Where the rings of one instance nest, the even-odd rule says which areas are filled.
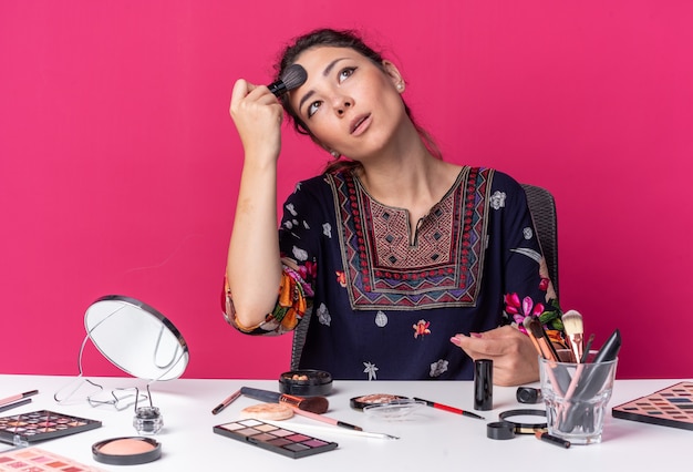
[[[473,379],[451,337],[524,330],[555,298],[525,193],[490,168],[464,167],[416,225],[351,171],[313,177],[287,199],[279,240],[277,308],[239,326],[227,289],[227,319],[255,335],[310,322],[300,368],[335,379]]]

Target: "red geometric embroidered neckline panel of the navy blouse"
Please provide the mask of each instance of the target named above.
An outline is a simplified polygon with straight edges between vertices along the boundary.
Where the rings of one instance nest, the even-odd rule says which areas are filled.
[[[476,302],[483,273],[492,170],[464,167],[408,245],[408,212],[383,205],[351,173],[333,188],[345,288],[353,309],[417,309]]]

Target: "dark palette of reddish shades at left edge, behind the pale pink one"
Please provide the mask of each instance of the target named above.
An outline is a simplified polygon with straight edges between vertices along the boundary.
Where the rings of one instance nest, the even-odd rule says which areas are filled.
[[[49,410],[0,418],[0,441],[35,442],[101,427],[101,421],[71,417]]]

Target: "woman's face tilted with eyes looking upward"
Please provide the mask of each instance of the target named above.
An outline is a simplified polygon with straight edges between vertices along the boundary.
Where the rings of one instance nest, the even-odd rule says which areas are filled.
[[[385,148],[406,116],[392,63],[381,68],[352,49],[331,47],[306,50],[296,63],[308,79],[290,92],[290,104],[319,144],[354,160]]]

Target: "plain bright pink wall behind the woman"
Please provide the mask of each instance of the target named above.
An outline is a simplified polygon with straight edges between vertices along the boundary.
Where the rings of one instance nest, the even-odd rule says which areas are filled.
[[[290,337],[219,309],[241,146],[234,81],[283,42],[359,28],[400,65],[447,160],[558,202],[563,308],[621,378],[693,376],[693,3],[0,2],[0,372],[76,373],[86,307],[142,299],[180,329],[185,377],[275,378]],[[285,134],[279,196],[327,156]],[[85,374],[115,369],[87,348]]]

